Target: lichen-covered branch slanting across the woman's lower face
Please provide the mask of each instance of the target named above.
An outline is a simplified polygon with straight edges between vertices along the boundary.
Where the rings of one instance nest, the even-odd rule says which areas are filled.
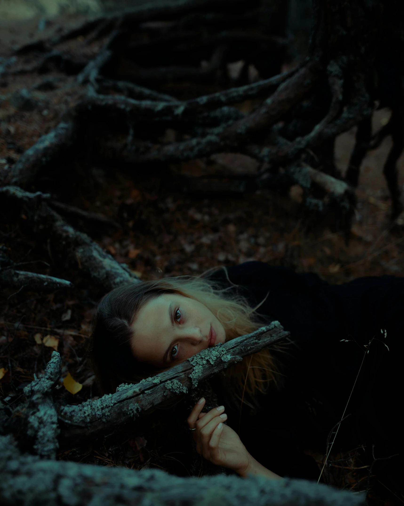
[[[62,422],[63,445],[96,437],[137,418],[160,403],[187,394],[199,381],[211,377],[242,357],[257,353],[288,337],[274,321],[251,334],[242,335],[224,345],[199,352],[185,362],[133,385],[121,385],[115,394],[77,406],[58,407]]]

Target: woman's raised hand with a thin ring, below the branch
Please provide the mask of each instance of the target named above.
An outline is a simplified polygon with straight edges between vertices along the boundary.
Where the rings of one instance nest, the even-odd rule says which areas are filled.
[[[238,435],[223,422],[227,419],[224,406],[201,413],[205,399],[200,399],[187,418],[188,426],[193,431],[196,451],[207,460],[232,469],[245,476],[250,466],[250,456]]]

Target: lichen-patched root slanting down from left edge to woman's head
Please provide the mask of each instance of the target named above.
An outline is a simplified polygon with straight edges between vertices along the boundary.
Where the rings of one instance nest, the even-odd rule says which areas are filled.
[[[29,193],[15,186],[0,188],[0,195],[3,205],[7,199],[23,203],[29,210],[28,219],[40,235],[50,238],[52,251],[59,259],[89,274],[106,291],[125,283],[139,282],[126,264],[119,264],[88,235],[75,230],[51,209],[45,202],[47,195]]]

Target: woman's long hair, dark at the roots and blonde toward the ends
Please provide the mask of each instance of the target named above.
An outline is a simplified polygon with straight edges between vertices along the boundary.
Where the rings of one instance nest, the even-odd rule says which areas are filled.
[[[209,279],[181,276],[115,288],[99,302],[92,332],[91,359],[103,393],[115,392],[121,383],[137,383],[160,372],[133,356],[131,328],[139,310],[151,299],[175,293],[204,304],[221,322],[226,342],[259,328],[263,321],[257,308],[229,289],[220,289]],[[269,350],[245,357],[225,370],[224,388],[233,400],[254,404],[255,395],[276,384],[278,370]],[[248,400],[250,402],[248,402]]]

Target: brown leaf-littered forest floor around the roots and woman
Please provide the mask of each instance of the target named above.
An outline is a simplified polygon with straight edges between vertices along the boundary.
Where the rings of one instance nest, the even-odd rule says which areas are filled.
[[[23,43],[35,25],[25,26],[23,33],[14,25],[1,27],[0,49],[4,55],[10,53],[12,46]],[[92,46],[85,49],[94,53],[96,50]],[[30,62],[25,64],[28,66]],[[49,77],[55,77],[55,89],[33,92],[32,110],[17,109],[11,97],[21,88],[30,89],[43,76],[25,72],[0,79],[0,170],[15,162],[20,153],[53,128],[66,107],[85,92],[84,87],[76,85],[74,76],[49,72],[46,78]],[[173,89],[165,91],[176,95]],[[243,103],[239,107],[247,110],[252,104]],[[385,124],[389,114],[387,109],[376,110],[374,129]],[[175,135],[172,130],[166,132],[167,138]],[[355,129],[337,138],[335,161],[342,173],[354,142]],[[358,205],[348,237],[333,231],[331,221],[316,223],[313,217],[303,213],[295,187],[289,195],[261,190],[252,194],[197,196],[176,189],[175,184],[168,185],[160,172],[144,174],[100,164],[88,167],[86,160],[77,160],[71,170],[71,188],[57,188],[56,193],[69,204],[103,213],[120,224],[120,229],[111,233],[88,228],[88,224],[80,221],[74,223],[119,262],[125,262],[142,280],[198,275],[211,268],[248,260],[282,265],[298,272],[314,272],[337,284],[360,276],[402,276],[404,233],[401,228],[389,225],[390,198],[382,174],[390,147],[391,140],[387,137],[377,150],[368,153],[362,164],[356,191]],[[398,166],[402,187],[403,157]],[[251,158],[228,153],[171,168],[174,172],[193,175],[215,170],[250,173],[258,170]],[[82,385],[73,396],[61,383],[60,397],[69,403],[94,398],[99,392],[88,359],[89,335],[102,292],[76,271],[64,270],[55,264],[49,244],[36,244],[23,226],[24,216],[21,218],[15,223],[0,223],[0,245],[9,248],[10,258],[14,262],[32,262],[24,269],[69,279],[75,287],[52,294],[2,292],[0,400],[10,405],[17,403],[22,388],[32,381],[34,373],[43,371],[53,349],[62,354],[63,376],[69,372]],[[44,340],[48,335],[54,339]],[[177,450],[173,453],[172,439],[161,435],[154,440],[159,423],[155,417],[151,426],[139,426],[131,435],[125,433],[118,442],[107,438],[84,450],[64,450],[60,458],[135,469],[157,466],[186,475],[181,459],[175,454]],[[323,455],[315,456],[321,464]],[[354,471],[358,466],[352,462],[354,457],[352,469],[343,475],[335,471],[334,483],[360,490],[367,471],[363,474]],[[384,503],[389,502],[386,499]]]

